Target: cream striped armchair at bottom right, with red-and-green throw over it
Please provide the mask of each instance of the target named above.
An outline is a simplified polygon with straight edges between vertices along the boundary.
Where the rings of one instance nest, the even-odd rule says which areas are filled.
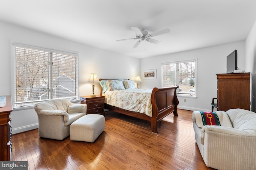
[[[196,124],[195,139],[206,166],[218,170],[256,170],[256,113],[244,109],[226,111],[233,128]]]

